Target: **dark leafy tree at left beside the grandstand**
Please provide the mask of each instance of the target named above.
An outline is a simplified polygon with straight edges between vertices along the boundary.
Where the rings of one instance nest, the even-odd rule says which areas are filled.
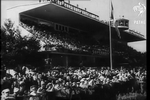
[[[25,64],[27,55],[38,52],[39,40],[34,36],[21,36],[19,28],[7,19],[1,27],[1,64],[9,68]]]

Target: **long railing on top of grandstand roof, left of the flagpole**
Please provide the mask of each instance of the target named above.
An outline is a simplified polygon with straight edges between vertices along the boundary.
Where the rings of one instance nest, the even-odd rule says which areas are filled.
[[[83,14],[83,15],[85,15],[85,16],[88,16],[88,17],[90,17],[90,18],[99,20],[99,16],[98,16],[98,15],[93,14],[93,13],[91,13],[91,12],[88,12],[88,11],[86,11],[86,10],[84,10],[84,9],[81,9],[81,8],[79,8],[79,7],[76,7],[76,6],[74,6],[74,5],[71,5],[71,4],[67,3],[67,2],[59,1],[59,0],[56,0],[56,1],[55,1],[55,0],[52,0],[51,2],[52,2],[52,3],[55,3],[55,4],[57,4],[57,5],[63,6],[63,7],[65,7],[65,8],[67,8],[67,9],[73,10],[73,11],[75,11],[75,12],[78,12],[78,13],[80,13],[80,14]]]

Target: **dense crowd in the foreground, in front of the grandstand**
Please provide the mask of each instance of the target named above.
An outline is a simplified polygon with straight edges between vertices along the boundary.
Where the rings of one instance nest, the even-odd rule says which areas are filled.
[[[23,66],[1,77],[1,100],[116,100],[119,94],[146,93],[143,68],[64,68],[41,72]]]

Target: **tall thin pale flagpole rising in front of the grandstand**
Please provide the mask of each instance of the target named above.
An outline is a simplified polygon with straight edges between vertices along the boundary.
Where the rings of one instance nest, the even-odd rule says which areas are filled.
[[[112,70],[113,65],[112,65],[112,40],[111,40],[111,0],[109,0],[109,55],[110,55],[110,68]]]

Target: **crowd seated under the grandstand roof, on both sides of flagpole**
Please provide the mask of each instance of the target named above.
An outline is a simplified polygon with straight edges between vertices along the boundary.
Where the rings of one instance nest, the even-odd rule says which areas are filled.
[[[27,31],[41,40],[43,48],[48,51],[61,51],[68,53],[89,54],[89,55],[108,55],[109,45],[100,43],[84,33],[68,33],[54,31],[52,27],[46,24],[36,23],[27,19],[22,19],[20,25]],[[113,53],[115,55],[126,56],[127,52],[135,52],[127,45],[112,41]],[[118,48],[119,47],[119,48]]]

